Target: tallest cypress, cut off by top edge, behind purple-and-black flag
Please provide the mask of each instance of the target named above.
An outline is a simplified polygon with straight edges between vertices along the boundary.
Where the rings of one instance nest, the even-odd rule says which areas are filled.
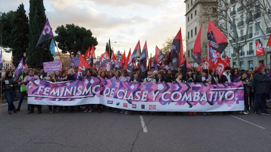
[[[50,41],[43,43],[42,48],[35,49],[46,22],[45,8],[43,0],[30,0],[29,3],[29,48],[27,50],[27,64],[32,68],[43,68],[43,62],[53,60],[49,52]]]

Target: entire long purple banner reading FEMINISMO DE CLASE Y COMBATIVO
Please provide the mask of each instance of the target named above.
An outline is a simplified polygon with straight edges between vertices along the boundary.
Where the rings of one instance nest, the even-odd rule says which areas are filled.
[[[100,103],[126,110],[169,112],[244,110],[242,82],[135,84],[90,78],[55,84],[33,80],[28,88],[29,104],[69,106]]]

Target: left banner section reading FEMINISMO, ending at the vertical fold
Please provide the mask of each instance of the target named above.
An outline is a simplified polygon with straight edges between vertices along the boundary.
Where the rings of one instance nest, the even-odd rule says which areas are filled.
[[[27,85],[28,103],[41,105],[74,106],[100,103],[100,80],[82,79],[52,83],[33,80]]]

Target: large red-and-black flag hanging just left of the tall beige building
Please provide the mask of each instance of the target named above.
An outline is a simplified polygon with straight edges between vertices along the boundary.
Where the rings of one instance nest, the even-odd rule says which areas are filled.
[[[167,58],[164,61],[164,65],[168,65],[169,62],[171,62],[171,65],[173,69],[178,69],[179,64],[182,64],[184,62],[183,58],[183,40],[182,40],[182,33],[181,28],[175,38],[173,39],[172,46],[171,46],[171,52],[167,56]]]

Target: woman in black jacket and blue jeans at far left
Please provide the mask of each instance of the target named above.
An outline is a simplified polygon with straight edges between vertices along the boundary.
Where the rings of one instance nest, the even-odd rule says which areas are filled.
[[[8,104],[8,114],[17,113],[16,107],[14,106],[14,98],[15,98],[15,89],[18,85],[17,81],[12,77],[12,71],[7,70],[5,73],[5,77],[1,78],[2,86],[3,86],[3,93],[7,100]]]

